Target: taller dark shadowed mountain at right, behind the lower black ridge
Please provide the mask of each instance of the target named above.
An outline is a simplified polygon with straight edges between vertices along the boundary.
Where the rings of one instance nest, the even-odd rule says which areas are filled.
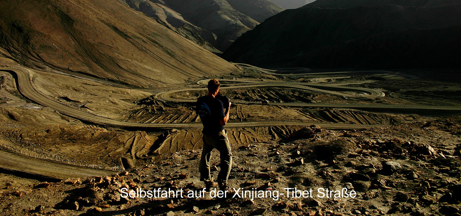
[[[461,4],[437,7],[378,5],[350,9],[308,7],[286,10],[242,35],[222,57],[229,61],[254,65],[287,65],[307,52],[363,36],[394,30],[438,29],[460,25],[459,17]],[[434,38],[434,41],[437,40],[443,38]]]

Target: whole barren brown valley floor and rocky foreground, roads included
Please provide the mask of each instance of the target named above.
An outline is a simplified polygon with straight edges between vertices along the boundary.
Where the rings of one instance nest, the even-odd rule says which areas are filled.
[[[4,164],[6,156],[9,164],[18,161],[16,168],[3,167],[6,214],[446,215],[459,209],[445,199],[459,187],[461,142],[459,81],[450,73],[435,71],[446,76],[434,79],[432,71],[236,64],[234,73],[218,77],[233,102],[226,126],[234,153],[231,187],[346,187],[358,197],[120,201],[124,184],[201,190],[201,123],[193,101],[205,93],[208,77],[176,88],[135,88],[3,61],[0,153]],[[430,90],[425,99],[410,92],[421,84]],[[310,125],[322,129],[308,134]],[[387,161],[400,168],[388,173]],[[52,171],[59,167],[72,175]],[[124,169],[127,175],[116,175]],[[86,177],[95,172],[110,177]]]

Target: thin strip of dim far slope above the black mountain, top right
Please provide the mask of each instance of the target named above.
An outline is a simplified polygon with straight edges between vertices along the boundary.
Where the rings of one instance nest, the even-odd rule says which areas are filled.
[[[303,7],[353,8],[356,6],[400,5],[400,6],[442,6],[461,3],[461,0],[316,0]]]

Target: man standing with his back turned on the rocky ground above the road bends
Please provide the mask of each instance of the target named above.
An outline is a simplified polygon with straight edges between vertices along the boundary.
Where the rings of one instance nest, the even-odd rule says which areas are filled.
[[[227,179],[231,173],[232,151],[224,125],[229,120],[230,107],[231,101],[219,94],[219,81],[217,79],[210,80],[208,82],[208,94],[197,99],[195,110],[203,123],[203,151],[199,166],[200,181],[205,182],[208,191],[218,187],[218,185],[221,191],[228,189]],[[210,175],[210,157],[214,148],[219,151],[221,159],[218,184],[213,181]]]

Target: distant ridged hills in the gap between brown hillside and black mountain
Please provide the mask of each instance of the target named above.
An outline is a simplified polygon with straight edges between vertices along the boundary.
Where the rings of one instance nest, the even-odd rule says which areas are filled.
[[[213,47],[224,51],[244,32],[284,10],[268,0],[124,0],[124,2],[136,11],[155,18],[159,23],[215,53],[220,52]]]

